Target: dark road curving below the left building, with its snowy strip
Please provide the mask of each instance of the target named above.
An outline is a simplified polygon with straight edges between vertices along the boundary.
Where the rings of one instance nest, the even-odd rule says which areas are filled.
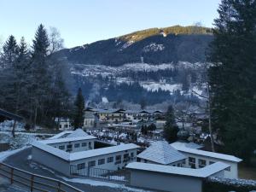
[[[14,166],[26,172],[32,172],[34,174],[38,174],[44,177],[59,179],[65,183],[73,185],[74,187],[84,190],[84,192],[156,192],[126,187],[124,184],[100,182],[92,179],[84,179],[86,181],[86,184],[67,182],[66,179],[62,179],[65,176],[61,175],[61,173],[55,174],[55,172],[53,172],[52,170],[49,170],[44,166],[40,166],[37,163],[32,162],[31,158],[29,158],[31,157],[31,153],[32,148],[26,148],[16,154],[9,156],[9,158],[4,160],[3,162],[8,164],[9,166]]]

